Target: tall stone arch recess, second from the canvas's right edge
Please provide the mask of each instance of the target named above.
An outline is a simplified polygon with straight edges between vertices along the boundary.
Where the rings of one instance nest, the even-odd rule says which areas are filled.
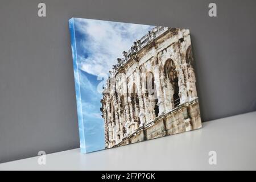
[[[178,84],[179,78],[177,75],[176,65],[174,63],[174,60],[172,59],[166,60],[163,67],[163,76],[164,76],[166,89],[170,89],[170,88],[172,89],[172,93],[166,94],[166,96],[167,97],[171,96],[171,99],[170,98],[168,99],[171,100],[172,102],[172,108],[170,108],[169,106],[168,109],[173,109],[180,104],[179,84]]]

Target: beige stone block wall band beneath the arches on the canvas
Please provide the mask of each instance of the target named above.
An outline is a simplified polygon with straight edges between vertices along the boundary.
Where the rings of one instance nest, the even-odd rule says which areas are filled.
[[[193,108],[193,116],[190,116],[191,108]],[[152,123],[141,127],[136,134],[125,138],[117,146],[200,129],[200,111],[197,109],[199,109],[198,100],[191,102],[188,106],[181,105],[178,109],[170,111],[170,113],[156,118]]]

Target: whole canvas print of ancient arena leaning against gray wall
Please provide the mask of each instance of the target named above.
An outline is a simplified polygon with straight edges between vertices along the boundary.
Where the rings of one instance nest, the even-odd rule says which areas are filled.
[[[199,129],[188,29],[69,20],[81,152]]]

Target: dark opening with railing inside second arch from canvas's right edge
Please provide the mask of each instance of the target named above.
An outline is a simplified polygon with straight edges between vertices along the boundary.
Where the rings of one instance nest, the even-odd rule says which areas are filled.
[[[164,64],[164,77],[166,78],[167,84],[170,82],[172,85],[173,95],[171,100],[172,106],[175,108],[180,104],[178,85],[179,78],[177,77],[175,63],[172,59],[168,59],[166,64]]]

